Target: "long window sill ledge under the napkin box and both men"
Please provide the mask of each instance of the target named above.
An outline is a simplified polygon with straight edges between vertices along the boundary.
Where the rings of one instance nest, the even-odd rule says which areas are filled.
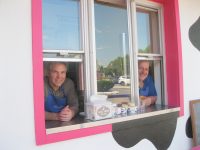
[[[114,118],[98,120],[98,121],[91,121],[85,119],[83,116],[77,116],[76,118],[72,119],[69,122],[46,121],[46,134],[53,134],[53,133],[66,132],[66,131],[89,128],[89,127],[96,127],[106,124],[119,123],[119,122],[136,120],[136,119],[152,117],[156,115],[162,115],[178,111],[180,111],[179,107],[154,105],[145,108],[143,112],[137,112],[130,115],[119,115]]]

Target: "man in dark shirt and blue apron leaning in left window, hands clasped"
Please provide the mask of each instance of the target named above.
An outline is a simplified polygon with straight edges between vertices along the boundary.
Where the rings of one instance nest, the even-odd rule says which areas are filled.
[[[74,83],[66,78],[67,66],[51,62],[44,79],[45,119],[70,121],[78,112],[78,98]]]

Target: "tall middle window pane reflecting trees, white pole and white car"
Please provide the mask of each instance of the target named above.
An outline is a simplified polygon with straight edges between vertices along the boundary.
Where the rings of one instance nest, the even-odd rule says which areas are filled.
[[[130,61],[127,10],[95,3],[98,92],[130,97]]]

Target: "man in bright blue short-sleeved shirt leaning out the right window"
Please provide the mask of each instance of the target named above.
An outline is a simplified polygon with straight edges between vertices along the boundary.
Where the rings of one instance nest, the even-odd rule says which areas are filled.
[[[149,61],[138,62],[139,95],[145,106],[155,104],[157,92],[152,77],[149,75]]]

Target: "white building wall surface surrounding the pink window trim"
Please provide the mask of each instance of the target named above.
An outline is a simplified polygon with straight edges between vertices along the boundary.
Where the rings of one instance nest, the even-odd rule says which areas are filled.
[[[185,124],[189,100],[200,98],[200,52],[190,43],[189,27],[200,16],[199,0],[179,0],[183,50],[185,115],[178,119],[170,150],[189,150]],[[33,110],[31,0],[0,0],[0,149],[123,150],[111,133],[36,146]],[[161,139],[162,140],[162,139]],[[153,150],[142,140],[133,150]]]

